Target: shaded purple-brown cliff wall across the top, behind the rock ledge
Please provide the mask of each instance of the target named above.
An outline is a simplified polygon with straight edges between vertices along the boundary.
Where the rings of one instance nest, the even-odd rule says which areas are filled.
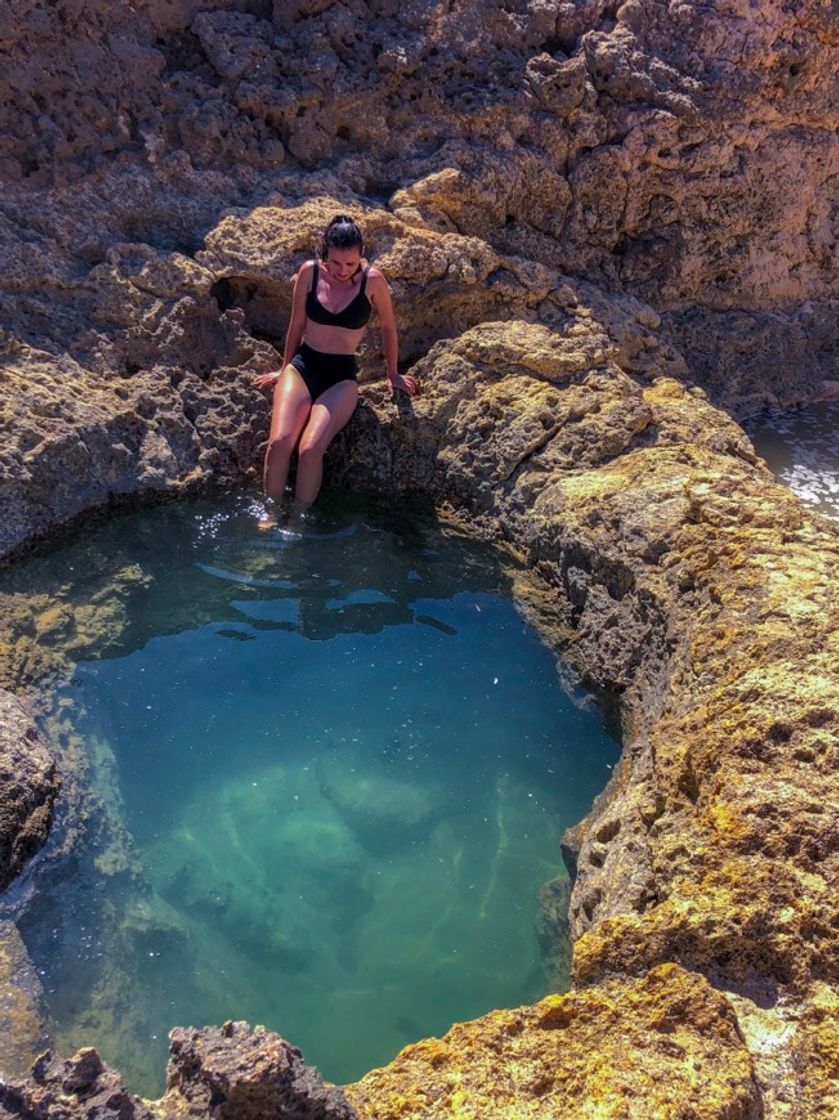
[[[183,295],[202,376],[207,233],[330,194],[643,299],[729,408],[812,396],[836,380],[838,26],[822,0],[8,4],[3,321],[84,368],[109,339],[112,379]],[[263,250],[214,282],[264,289]],[[165,290],[114,251],[175,254]]]

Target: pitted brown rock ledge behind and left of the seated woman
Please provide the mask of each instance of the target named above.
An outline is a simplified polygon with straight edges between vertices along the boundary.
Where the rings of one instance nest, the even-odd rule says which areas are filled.
[[[66,326],[44,344],[55,353],[7,340],[0,557],[124,495],[177,493],[258,469],[269,401],[253,379],[277,368],[290,278],[338,205],[281,202],[222,217],[195,260],[113,246],[86,281],[73,320],[80,335]],[[660,316],[634,297],[605,295],[478,237],[417,230],[380,207],[349,208],[392,284],[405,363],[487,316],[561,326],[597,315],[627,368],[687,376],[684,358],[656,330]],[[94,329],[103,323],[116,334]],[[377,345],[373,332],[361,353],[364,377],[382,379]]]

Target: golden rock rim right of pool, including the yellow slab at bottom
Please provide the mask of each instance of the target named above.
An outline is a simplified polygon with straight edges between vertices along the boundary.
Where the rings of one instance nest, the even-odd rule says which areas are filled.
[[[649,308],[600,295],[595,312],[582,295],[557,289],[553,327],[437,340],[413,366],[421,394],[392,403],[369,385],[330,452],[335,485],[425,493],[523,557],[566,657],[621,697],[625,740],[565,838],[576,990],[409,1047],[347,1092],[370,1120],[827,1118],[839,530],[702,390],[655,375],[671,351],[641,346]],[[94,579],[102,613],[87,636],[67,605],[64,641],[118,634],[118,591]],[[253,1056],[249,1043],[243,1068]]]

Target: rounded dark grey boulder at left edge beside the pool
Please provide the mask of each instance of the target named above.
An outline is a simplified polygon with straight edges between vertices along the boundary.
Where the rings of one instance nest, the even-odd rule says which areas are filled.
[[[0,890],[47,838],[60,780],[35,724],[0,690]]]

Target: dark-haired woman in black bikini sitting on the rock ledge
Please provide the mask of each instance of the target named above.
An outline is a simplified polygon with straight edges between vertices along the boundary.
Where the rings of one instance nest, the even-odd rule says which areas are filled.
[[[388,281],[379,269],[365,268],[363,250],[355,222],[344,214],[334,217],[321,240],[320,263],[306,261],[295,277],[282,370],[257,377],[259,389],[273,385],[265,494],[282,498],[297,447],[299,510],[317,497],[324,452],[357,403],[355,352],[373,308],[382,328],[391,395],[397,389],[411,396],[417,392],[416,379],[397,371],[397,324]]]

